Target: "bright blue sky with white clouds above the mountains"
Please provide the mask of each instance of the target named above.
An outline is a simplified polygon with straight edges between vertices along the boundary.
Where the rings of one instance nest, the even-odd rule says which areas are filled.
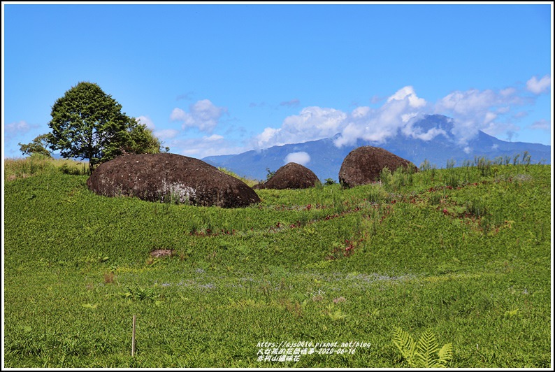
[[[24,4],[3,6],[3,157],[50,131],[81,81],[202,158],[340,134],[336,145],[453,117],[552,144],[552,5]]]

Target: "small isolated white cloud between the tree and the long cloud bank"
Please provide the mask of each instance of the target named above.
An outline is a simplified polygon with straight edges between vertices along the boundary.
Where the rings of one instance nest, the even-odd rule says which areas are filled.
[[[175,122],[182,122],[182,129],[196,128],[210,134],[226,112],[226,108],[217,107],[210,100],[203,99],[189,105],[188,113],[181,108],[174,108],[170,119]]]

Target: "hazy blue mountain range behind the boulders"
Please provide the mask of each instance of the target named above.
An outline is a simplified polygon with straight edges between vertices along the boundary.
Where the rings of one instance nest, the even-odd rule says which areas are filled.
[[[343,159],[355,148],[366,145],[384,148],[399,157],[410,160],[416,166],[420,166],[424,160],[437,168],[444,168],[447,162],[452,161],[454,161],[454,166],[461,166],[467,160],[473,162],[475,157],[485,157],[490,160],[496,157],[503,157],[503,159],[510,157],[512,162],[515,155],[522,155],[525,151],[531,155],[532,164],[551,164],[551,146],[539,143],[501,141],[483,131],[478,131],[477,136],[467,141],[465,145],[459,145],[456,141],[457,138],[452,134],[453,120],[443,115],[427,115],[415,122],[412,127],[419,127],[421,133],[435,128],[442,134],[429,141],[424,141],[399,133],[385,143],[373,143],[359,139],[352,145],[340,148],[334,144],[334,140],[339,136],[337,134],[332,138],[317,141],[273,146],[264,150],[250,150],[238,155],[210,156],[202,160],[213,166],[229,169],[238,176],[266,180],[268,171],[277,171],[285,165],[287,155],[305,152],[310,160],[302,165],[313,171],[320,180],[331,178],[336,182]],[[308,159],[306,155],[303,157]]]

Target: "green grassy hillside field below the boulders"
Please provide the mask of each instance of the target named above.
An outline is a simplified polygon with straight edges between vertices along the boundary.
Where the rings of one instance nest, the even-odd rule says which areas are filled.
[[[6,367],[403,368],[396,329],[451,344],[452,368],[552,366],[549,165],[262,189],[222,209],[107,198],[81,164],[12,162]]]

